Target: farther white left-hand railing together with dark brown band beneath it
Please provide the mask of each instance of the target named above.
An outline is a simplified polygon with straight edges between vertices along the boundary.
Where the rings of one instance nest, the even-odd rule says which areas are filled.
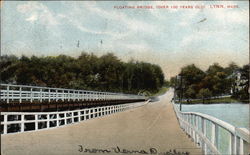
[[[73,110],[146,101],[145,96],[26,85],[0,84],[1,112]]]

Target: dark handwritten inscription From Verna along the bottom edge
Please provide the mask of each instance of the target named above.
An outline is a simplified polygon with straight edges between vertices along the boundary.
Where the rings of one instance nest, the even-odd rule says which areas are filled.
[[[82,145],[78,145],[78,151],[82,153],[93,153],[93,154],[155,154],[155,155],[189,155],[190,153],[187,151],[177,151],[176,149],[168,150],[165,152],[159,152],[156,148],[149,149],[125,149],[120,148],[119,146],[102,149],[102,148],[84,148]]]

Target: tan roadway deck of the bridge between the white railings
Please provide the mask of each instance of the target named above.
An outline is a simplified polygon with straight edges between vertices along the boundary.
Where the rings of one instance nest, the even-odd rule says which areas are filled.
[[[159,155],[164,155],[163,152],[170,149],[189,154],[202,154],[201,149],[198,149],[179,127],[170,104],[171,98],[172,93],[168,92],[159,102],[125,112],[57,129],[5,135],[2,136],[1,153],[6,155],[125,154],[121,152],[130,150],[134,151],[130,154],[143,154],[141,150],[149,153],[150,148],[155,148]],[[83,152],[80,152],[79,145],[82,145]],[[120,153],[115,153],[119,152],[117,146],[120,148]],[[87,152],[92,153],[84,153],[85,148],[91,149]],[[103,153],[103,150],[111,152]]]

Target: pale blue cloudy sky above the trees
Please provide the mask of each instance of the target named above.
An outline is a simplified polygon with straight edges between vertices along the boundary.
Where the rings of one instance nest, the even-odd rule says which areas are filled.
[[[123,61],[158,64],[169,79],[192,63],[203,70],[215,62],[249,63],[248,19],[248,1],[4,1],[1,54],[77,57],[82,51],[98,56],[113,52]]]

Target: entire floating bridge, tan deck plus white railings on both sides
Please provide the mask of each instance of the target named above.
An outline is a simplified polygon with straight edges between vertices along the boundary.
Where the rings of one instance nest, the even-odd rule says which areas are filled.
[[[159,155],[173,149],[190,154],[225,154],[221,146],[226,148],[226,154],[250,153],[248,129],[210,115],[179,111],[176,104],[171,103],[172,89],[159,101],[149,102],[145,96],[131,94],[0,86],[2,150],[6,154],[51,154],[52,151],[53,154],[77,154],[72,148],[79,146],[78,139],[94,148],[113,148],[118,144],[128,148],[155,145]],[[107,115],[110,116],[105,117]],[[51,128],[54,130],[47,130]],[[41,137],[50,138],[51,143]],[[25,140],[27,142],[22,143]],[[60,148],[53,149],[52,144]],[[30,145],[36,149],[27,150]],[[16,146],[26,149],[15,152]]]

